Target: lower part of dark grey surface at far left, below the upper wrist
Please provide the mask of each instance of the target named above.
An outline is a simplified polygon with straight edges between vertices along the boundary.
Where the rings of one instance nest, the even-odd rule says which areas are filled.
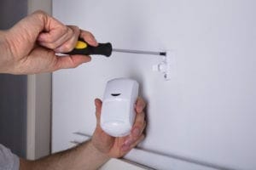
[[[0,144],[26,156],[26,76],[0,75]]]

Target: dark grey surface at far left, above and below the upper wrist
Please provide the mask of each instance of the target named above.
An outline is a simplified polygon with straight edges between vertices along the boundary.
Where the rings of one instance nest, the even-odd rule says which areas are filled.
[[[26,13],[26,0],[1,0],[0,29],[14,26]],[[0,74],[0,144],[26,156],[26,76]]]

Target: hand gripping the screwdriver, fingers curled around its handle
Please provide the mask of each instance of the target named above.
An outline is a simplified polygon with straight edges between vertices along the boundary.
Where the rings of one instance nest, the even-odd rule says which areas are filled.
[[[0,72],[34,74],[73,68],[88,62],[89,56],[55,55],[71,51],[79,37],[91,46],[97,46],[89,31],[64,26],[43,11],[35,12],[8,31],[1,32]]]

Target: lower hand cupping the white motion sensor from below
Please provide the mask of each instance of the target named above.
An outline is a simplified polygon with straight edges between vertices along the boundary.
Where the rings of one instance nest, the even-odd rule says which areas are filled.
[[[144,138],[143,130],[146,127],[145,102],[142,98],[137,99],[136,112],[137,116],[134,125],[131,129],[131,134],[125,137],[114,138],[109,136],[102,130],[100,126],[100,117],[102,110],[102,101],[100,99],[95,100],[96,105],[96,130],[92,136],[91,142],[94,147],[101,153],[110,157],[125,156],[132,148],[139,144]]]

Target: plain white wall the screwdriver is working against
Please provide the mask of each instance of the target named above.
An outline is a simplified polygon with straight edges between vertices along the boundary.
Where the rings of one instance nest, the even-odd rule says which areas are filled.
[[[77,69],[55,72],[53,151],[70,147],[74,132],[92,134],[94,99],[102,98],[108,80],[131,77],[148,102],[141,150],[205,167],[256,168],[255,1],[54,0],[53,5],[55,17],[92,31],[99,42],[168,49],[175,61],[175,75],[167,82],[152,71],[161,57],[143,54],[94,56]],[[148,167],[181,169],[177,161],[147,153],[127,158]]]

